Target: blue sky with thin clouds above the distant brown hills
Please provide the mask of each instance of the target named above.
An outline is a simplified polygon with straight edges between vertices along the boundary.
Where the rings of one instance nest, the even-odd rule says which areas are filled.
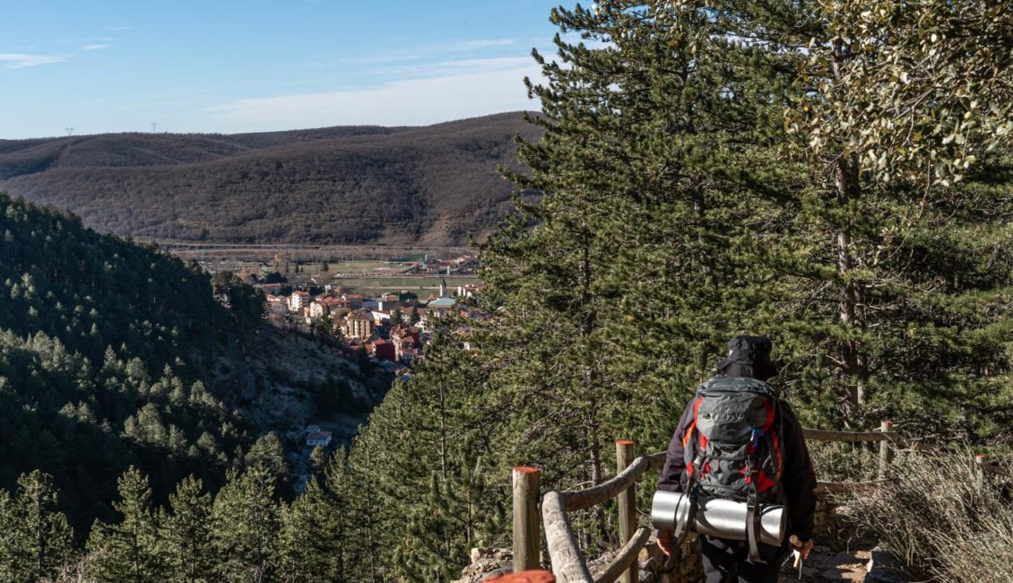
[[[0,0],[0,139],[537,110],[559,0]]]

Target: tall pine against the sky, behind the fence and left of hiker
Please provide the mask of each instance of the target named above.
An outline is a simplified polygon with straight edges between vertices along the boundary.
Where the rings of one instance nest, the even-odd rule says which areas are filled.
[[[728,42],[715,14],[610,1],[552,18],[580,42],[557,37],[565,67],[536,54],[544,136],[519,145],[530,172],[506,174],[543,197],[482,247],[502,306],[482,346],[514,425],[503,465],[564,468],[545,479],[570,487],[607,479],[616,437],[671,436],[764,291],[741,246],[785,212],[769,191],[792,174],[757,163],[780,111],[756,71],[775,57]]]

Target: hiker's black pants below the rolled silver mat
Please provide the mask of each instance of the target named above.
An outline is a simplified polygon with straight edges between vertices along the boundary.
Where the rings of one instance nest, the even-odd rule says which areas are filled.
[[[700,557],[707,583],[777,583],[781,564],[790,553],[788,543],[782,546],[760,544],[760,558],[765,564],[750,561],[750,545],[745,540],[725,540],[701,536]]]

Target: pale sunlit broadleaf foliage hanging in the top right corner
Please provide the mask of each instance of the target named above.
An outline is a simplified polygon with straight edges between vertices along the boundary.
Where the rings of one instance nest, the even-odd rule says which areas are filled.
[[[811,92],[787,117],[816,152],[928,190],[949,186],[1000,145],[1013,122],[1013,16],[995,0],[835,0],[809,43]],[[799,127],[801,122],[801,127]]]

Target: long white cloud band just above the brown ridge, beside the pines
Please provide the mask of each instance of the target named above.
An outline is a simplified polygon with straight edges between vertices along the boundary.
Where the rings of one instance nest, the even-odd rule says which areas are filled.
[[[493,70],[407,79],[325,93],[240,99],[206,110],[222,125],[243,130],[334,125],[418,125],[531,106],[522,83],[537,76],[528,62]]]

